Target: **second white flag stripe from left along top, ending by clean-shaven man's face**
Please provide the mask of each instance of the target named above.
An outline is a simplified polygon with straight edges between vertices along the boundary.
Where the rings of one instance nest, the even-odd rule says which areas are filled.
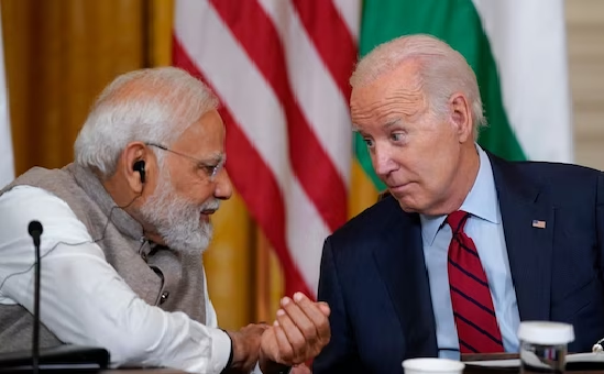
[[[303,113],[348,186],[352,139],[348,103],[326,69],[290,1],[261,0],[285,46],[289,84]]]

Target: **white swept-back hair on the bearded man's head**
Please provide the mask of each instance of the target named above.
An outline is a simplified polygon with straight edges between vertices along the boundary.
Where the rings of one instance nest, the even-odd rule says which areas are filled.
[[[218,99],[200,80],[176,67],[117,77],[97,98],[75,143],[77,164],[110,177],[130,142],[169,146]],[[162,162],[161,153],[157,153]]]

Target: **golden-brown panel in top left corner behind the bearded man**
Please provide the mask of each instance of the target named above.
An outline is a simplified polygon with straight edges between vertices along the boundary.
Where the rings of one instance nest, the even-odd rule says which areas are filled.
[[[143,0],[2,0],[15,172],[61,167],[99,91],[143,66]]]

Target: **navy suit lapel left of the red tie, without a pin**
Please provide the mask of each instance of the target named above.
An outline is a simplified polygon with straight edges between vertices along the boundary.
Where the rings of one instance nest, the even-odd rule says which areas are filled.
[[[405,213],[393,197],[383,239],[373,256],[398,315],[405,356],[436,356],[436,327],[417,215]]]

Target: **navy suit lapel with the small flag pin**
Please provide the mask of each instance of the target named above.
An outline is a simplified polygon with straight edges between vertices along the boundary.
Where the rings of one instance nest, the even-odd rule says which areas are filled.
[[[535,179],[514,164],[490,158],[520,320],[549,320],[554,209]]]

